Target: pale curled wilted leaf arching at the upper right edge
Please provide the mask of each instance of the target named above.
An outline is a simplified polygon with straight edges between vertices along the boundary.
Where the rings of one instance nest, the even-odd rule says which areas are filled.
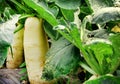
[[[119,7],[106,7],[100,9],[92,17],[93,24],[103,25],[110,21],[120,20],[120,8]]]

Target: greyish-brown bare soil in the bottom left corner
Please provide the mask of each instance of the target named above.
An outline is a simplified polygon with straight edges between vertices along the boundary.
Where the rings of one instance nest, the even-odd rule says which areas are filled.
[[[20,69],[0,69],[0,84],[28,84],[26,80],[20,80],[23,74]]]

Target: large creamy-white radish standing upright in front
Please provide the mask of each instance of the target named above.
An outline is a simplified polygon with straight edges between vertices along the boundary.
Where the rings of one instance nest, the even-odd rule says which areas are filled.
[[[42,19],[28,17],[25,21],[24,55],[30,84],[47,84],[41,76],[48,48]]]

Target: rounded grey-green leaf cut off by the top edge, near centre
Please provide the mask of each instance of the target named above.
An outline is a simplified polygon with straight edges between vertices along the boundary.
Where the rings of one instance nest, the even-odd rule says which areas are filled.
[[[55,0],[55,4],[63,9],[77,9],[80,6],[80,0]]]

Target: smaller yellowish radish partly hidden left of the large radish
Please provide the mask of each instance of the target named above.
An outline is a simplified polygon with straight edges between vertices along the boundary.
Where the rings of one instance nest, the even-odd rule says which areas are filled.
[[[11,53],[11,49],[9,48],[6,60],[6,67],[9,69],[18,68],[24,60],[23,33],[24,29],[22,28],[14,34],[13,43],[11,45],[13,55]]]

